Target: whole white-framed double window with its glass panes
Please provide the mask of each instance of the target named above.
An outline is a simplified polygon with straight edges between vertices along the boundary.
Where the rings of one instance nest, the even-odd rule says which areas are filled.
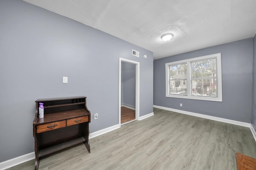
[[[166,97],[222,102],[220,53],[166,63]]]

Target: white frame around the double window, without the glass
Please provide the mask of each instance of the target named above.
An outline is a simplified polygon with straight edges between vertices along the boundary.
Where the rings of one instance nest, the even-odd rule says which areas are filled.
[[[217,64],[217,89],[218,89],[218,97],[208,97],[208,96],[192,96],[192,88],[191,88],[191,62],[198,61],[198,60],[205,60],[205,59],[212,59],[216,58],[216,64]],[[169,65],[175,65],[180,63],[187,63],[187,96],[184,95],[175,95],[175,94],[168,94],[170,85],[169,85]],[[194,100],[208,100],[208,101],[215,101],[215,102],[222,102],[222,72],[221,72],[221,53],[212,54],[212,55],[206,55],[202,57],[196,57],[181,61],[174,61],[171,63],[165,64],[165,70],[166,70],[166,97],[170,98],[184,98],[184,99],[194,99]]]

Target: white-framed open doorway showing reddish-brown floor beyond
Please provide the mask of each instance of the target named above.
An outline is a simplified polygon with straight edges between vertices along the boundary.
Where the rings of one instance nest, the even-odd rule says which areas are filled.
[[[119,59],[119,126],[139,119],[140,63]]]

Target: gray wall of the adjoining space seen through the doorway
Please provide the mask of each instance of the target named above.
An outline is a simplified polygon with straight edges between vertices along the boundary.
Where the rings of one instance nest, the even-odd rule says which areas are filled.
[[[122,101],[121,104],[135,108],[136,94],[136,65],[122,62]]]

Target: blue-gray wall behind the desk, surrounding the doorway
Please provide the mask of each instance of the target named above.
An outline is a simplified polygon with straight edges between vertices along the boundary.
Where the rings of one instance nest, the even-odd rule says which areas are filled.
[[[90,133],[117,125],[119,57],[140,62],[140,116],[153,112],[152,52],[22,0],[0,1],[0,23],[0,162],[34,151],[36,99],[87,96]]]

